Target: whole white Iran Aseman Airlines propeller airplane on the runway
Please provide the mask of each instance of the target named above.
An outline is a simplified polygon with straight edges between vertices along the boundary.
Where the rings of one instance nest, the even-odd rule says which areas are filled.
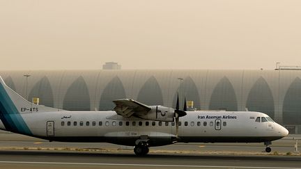
[[[137,155],[173,143],[264,143],[271,152],[271,141],[288,135],[260,112],[181,111],[178,98],[176,109],[133,99],[113,102],[114,111],[65,111],[33,104],[0,76],[0,129],[49,141],[133,146]]]

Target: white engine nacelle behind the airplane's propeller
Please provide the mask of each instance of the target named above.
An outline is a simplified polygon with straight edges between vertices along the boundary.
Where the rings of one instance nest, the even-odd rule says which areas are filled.
[[[162,122],[173,122],[174,109],[165,106],[150,106],[151,111],[136,113],[136,116],[145,120],[155,120]]]

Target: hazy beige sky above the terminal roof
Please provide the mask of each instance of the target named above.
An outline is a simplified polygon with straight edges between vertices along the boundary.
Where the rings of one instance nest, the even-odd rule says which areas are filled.
[[[301,1],[0,0],[0,70],[301,65]]]

